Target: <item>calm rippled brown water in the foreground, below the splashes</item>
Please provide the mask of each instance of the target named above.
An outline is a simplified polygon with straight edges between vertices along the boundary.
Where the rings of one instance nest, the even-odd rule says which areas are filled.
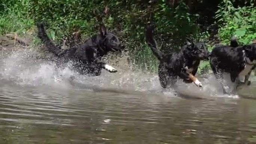
[[[0,86],[0,143],[256,143],[256,101]]]

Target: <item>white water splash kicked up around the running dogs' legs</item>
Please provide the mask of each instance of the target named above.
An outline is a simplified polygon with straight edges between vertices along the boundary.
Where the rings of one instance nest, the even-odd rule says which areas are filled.
[[[88,77],[80,75],[68,67],[58,69],[52,61],[35,58],[36,54],[32,50],[18,50],[5,56],[1,59],[1,79],[12,81],[21,86],[140,91],[174,96],[173,89],[163,91],[156,73],[132,70],[132,64],[129,64],[127,60],[128,56],[108,61],[108,64],[118,70],[117,73],[113,74],[102,70],[101,76]],[[213,75],[201,79],[201,82],[204,85],[203,88],[198,88],[193,83],[182,83],[180,80],[177,83],[177,89],[184,94],[201,97],[238,97],[237,95],[223,95],[222,88]]]

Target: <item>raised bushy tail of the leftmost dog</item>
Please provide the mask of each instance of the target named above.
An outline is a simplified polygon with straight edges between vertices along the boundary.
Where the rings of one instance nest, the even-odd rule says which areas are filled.
[[[52,43],[50,38],[47,36],[45,32],[45,27],[42,22],[38,22],[37,24],[37,29],[38,29],[38,37],[42,40],[43,44],[46,46],[46,50],[55,54],[59,55],[61,50]]]

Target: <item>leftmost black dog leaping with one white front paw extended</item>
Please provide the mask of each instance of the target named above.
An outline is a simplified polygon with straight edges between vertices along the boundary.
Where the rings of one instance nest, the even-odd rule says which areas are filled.
[[[101,61],[101,58],[108,52],[116,52],[124,48],[115,34],[107,33],[104,25],[100,26],[100,34],[92,36],[80,45],[73,48],[61,50],[55,46],[45,32],[44,25],[37,23],[38,36],[46,46],[46,50],[57,56],[58,62],[73,62],[73,68],[80,74],[89,74],[91,76],[99,76],[101,69],[105,69],[111,73],[117,70],[112,66]]]

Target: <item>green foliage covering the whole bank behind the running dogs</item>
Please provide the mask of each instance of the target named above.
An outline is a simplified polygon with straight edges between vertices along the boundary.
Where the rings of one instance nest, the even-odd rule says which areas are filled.
[[[220,26],[218,36],[222,43],[229,43],[232,36],[244,44],[256,38],[256,9],[253,1],[246,1],[246,6],[234,6],[231,0],[219,0],[215,19]],[[135,65],[156,71],[158,60],[144,40],[147,24],[155,25],[155,38],[165,53],[179,50],[186,37],[203,40],[209,51],[213,49],[212,42],[208,41],[210,33],[198,25],[198,19],[204,19],[201,15],[207,14],[191,12],[202,7],[201,4],[207,3],[197,0],[173,0],[173,4],[167,0],[1,0],[0,34],[22,35],[35,28],[35,22],[45,21],[49,37],[58,42],[64,34],[78,30],[84,37],[91,36],[103,23],[120,37]],[[107,13],[104,12],[106,6]],[[39,45],[40,41],[33,39],[33,44]],[[207,73],[209,69],[209,63],[202,61],[198,73]]]

